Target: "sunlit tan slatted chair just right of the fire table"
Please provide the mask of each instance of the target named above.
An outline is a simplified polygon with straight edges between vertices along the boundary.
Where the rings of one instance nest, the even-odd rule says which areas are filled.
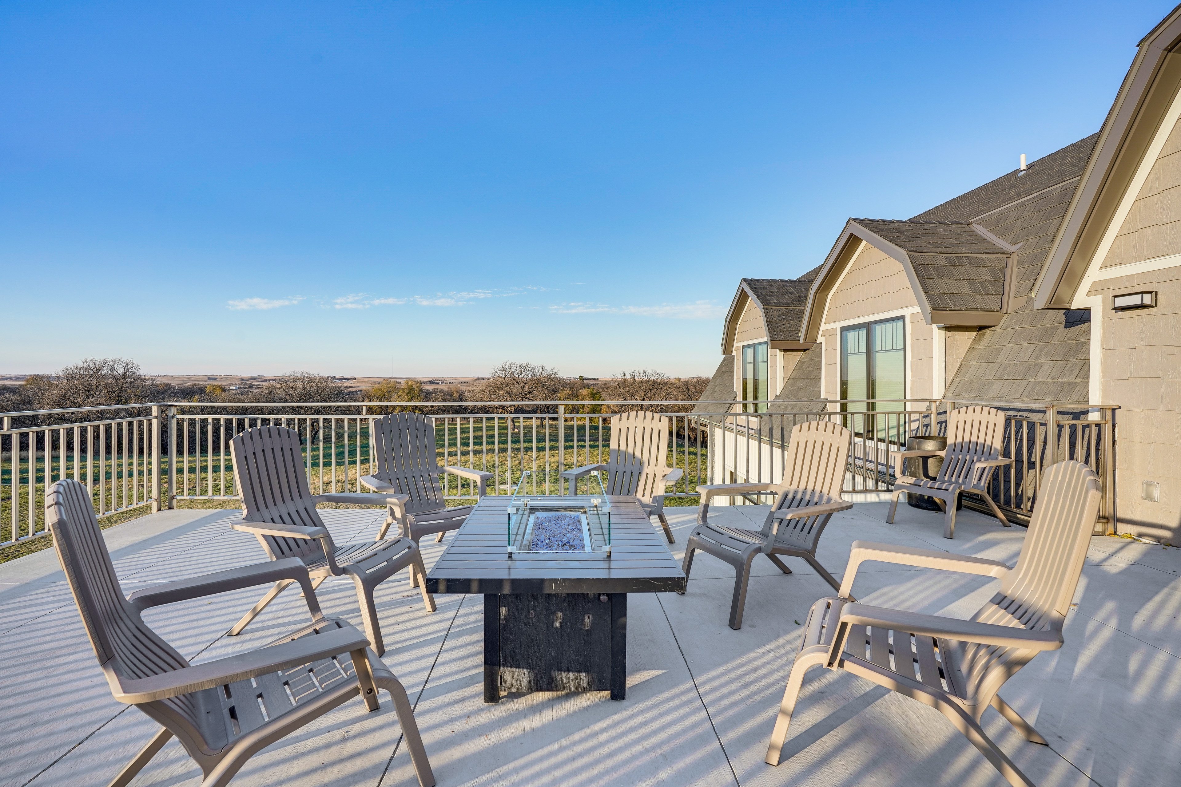
[[[693,568],[693,552],[702,550],[735,568],[733,601],[730,604],[730,628],[742,628],[746,606],[750,564],[765,555],[783,573],[791,569],[777,555],[801,557],[833,589],[840,588],[816,559],[816,546],[828,520],[837,511],[848,511],[852,503],[841,499],[841,487],[849,461],[853,433],[833,421],[804,421],[791,429],[784,455],[783,481],[751,484],[712,484],[698,486],[702,504],[697,526],[685,547],[685,576]],[[744,530],[709,522],[710,500],[719,494],[775,494],[762,530]]]

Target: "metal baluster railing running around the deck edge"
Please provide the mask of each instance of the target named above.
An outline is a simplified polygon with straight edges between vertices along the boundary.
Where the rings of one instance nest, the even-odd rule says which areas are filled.
[[[1100,473],[1101,523],[1116,522],[1115,407],[959,402],[947,400],[801,402],[158,402],[106,408],[5,413],[0,428],[0,547],[45,533],[45,490],[60,478],[91,488],[99,517],[176,500],[231,499],[229,441],[263,424],[299,431],[313,493],[365,491],[377,470],[370,439],[384,412],[431,414],[439,465],[491,472],[490,494],[508,494],[527,470],[560,470],[607,459],[613,412],[644,408],[671,420],[668,464],[685,471],[666,494],[697,497],[703,484],[776,481],[791,428],[835,420],[854,432],[843,493],[881,493],[893,485],[889,454],[916,435],[940,434],[947,412],[986,404],[1006,412],[1005,453],[1013,464],[992,480],[992,497],[1018,523],[1027,522],[1042,471],[1078,459]],[[775,412],[744,413],[742,405]],[[691,406],[717,412],[683,412]],[[129,415],[133,411],[139,414]],[[587,412],[594,411],[594,412]],[[150,414],[148,414],[150,413]],[[103,418],[104,414],[111,418]],[[43,424],[14,427],[13,420]],[[83,417],[96,420],[81,420]],[[61,422],[65,421],[65,422]],[[1052,435],[1052,439],[1051,439]],[[534,474],[534,478],[548,473]],[[448,498],[474,498],[474,484],[443,474]],[[554,490],[537,488],[531,493]],[[864,498],[862,498],[864,499]],[[743,503],[735,499],[735,503]],[[756,500],[750,500],[756,501]],[[973,505],[971,498],[966,505]],[[983,503],[980,504],[983,506]],[[973,506],[974,507],[974,506]]]

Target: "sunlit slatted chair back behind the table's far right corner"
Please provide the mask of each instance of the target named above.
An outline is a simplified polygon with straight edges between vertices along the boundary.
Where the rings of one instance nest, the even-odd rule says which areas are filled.
[[[647,411],[611,419],[611,450],[603,487],[607,494],[651,499],[664,493],[668,465],[668,418]],[[658,488],[659,486],[659,488]]]

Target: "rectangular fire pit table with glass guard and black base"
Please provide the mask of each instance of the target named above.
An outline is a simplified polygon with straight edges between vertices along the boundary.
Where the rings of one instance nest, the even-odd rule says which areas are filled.
[[[526,471],[479,500],[426,577],[432,593],[484,596],[484,702],[509,691],[627,695],[627,593],[685,590],[685,572],[639,499],[595,471],[562,491]]]

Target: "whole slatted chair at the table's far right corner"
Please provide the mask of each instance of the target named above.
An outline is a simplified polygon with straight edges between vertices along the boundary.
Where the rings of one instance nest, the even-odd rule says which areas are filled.
[[[593,471],[605,471],[607,494],[640,498],[644,513],[655,516],[665,538],[674,543],[664,514],[665,487],[685,474],[680,467],[668,467],[668,418],[638,409],[611,418],[611,448],[607,461],[562,471],[569,481],[569,494],[578,490],[580,478]]]

